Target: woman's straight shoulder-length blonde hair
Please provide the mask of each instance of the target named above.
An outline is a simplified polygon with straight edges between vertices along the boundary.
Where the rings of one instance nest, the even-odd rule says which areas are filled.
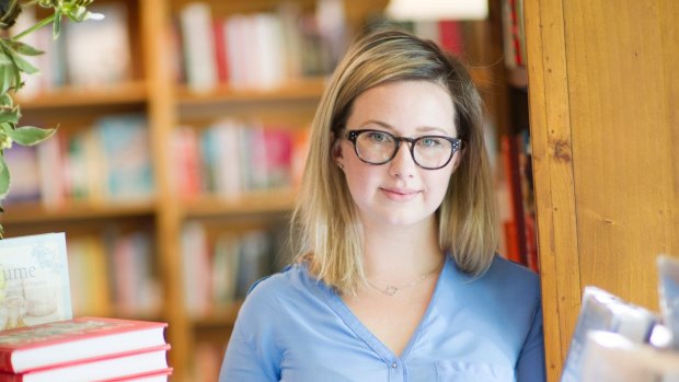
[[[422,80],[444,86],[454,104],[461,163],[437,210],[439,244],[471,275],[491,265],[498,241],[490,160],[483,139],[483,104],[465,67],[434,43],[406,32],[368,32],[349,47],[326,86],[315,117],[292,227],[298,259],[312,275],[341,292],[365,281],[362,236],[344,175],[332,157],[354,100],[383,83]]]

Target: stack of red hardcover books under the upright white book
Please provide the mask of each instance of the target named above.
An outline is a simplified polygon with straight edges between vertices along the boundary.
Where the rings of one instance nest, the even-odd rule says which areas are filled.
[[[168,381],[166,326],[78,317],[0,332],[0,382]]]

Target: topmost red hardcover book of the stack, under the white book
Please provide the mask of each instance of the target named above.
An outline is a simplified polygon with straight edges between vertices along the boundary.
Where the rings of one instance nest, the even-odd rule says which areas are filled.
[[[21,373],[164,346],[166,323],[78,317],[4,331],[0,371]]]

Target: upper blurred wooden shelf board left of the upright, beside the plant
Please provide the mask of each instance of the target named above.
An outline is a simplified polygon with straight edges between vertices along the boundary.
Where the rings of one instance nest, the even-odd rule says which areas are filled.
[[[49,108],[69,108],[83,106],[107,106],[140,104],[148,100],[147,84],[133,81],[115,85],[92,89],[79,86],[57,88],[30,97],[16,97],[24,112]]]

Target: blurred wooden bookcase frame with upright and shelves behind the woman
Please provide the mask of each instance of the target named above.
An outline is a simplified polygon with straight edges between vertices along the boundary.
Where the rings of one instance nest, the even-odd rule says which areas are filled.
[[[99,1],[99,0],[97,0]],[[203,194],[195,198],[179,195],[173,183],[177,169],[172,162],[176,155],[170,138],[177,126],[205,124],[225,117],[258,118],[264,123],[304,129],[313,118],[315,107],[327,80],[326,73],[313,73],[288,79],[273,88],[239,88],[229,83],[205,92],[196,92],[177,80],[172,57],[177,53],[172,46],[181,38],[171,37],[179,32],[176,18],[188,0],[105,0],[127,4],[128,33],[134,62],[131,80],[90,89],[71,85],[49,89],[32,97],[16,101],[26,120],[59,124],[61,129],[87,129],[92,120],[111,114],[138,113],[148,120],[149,152],[153,170],[154,197],[147,202],[123,200],[113,202],[77,202],[67,200],[55,207],[34,204],[4,206],[0,222],[10,235],[12,232],[32,233],[39,230],[67,231],[73,236],[96,234],[110,227],[127,232],[137,228],[149,232],[154,253],[154,275],[160,281],[163,303],[159,312],[120,311],[111,304],[111,314],[124,317],[163,320],[170,323],[168,339],[172,345],[170,363],[174,368],[172,380],[194,381],[191,372],[193,350],[199,336],[196,331],[222,328],[229,331],[240,308],[237,302],[226,308],[193,319],[185,309],[183,290],[181,238],[187,222],[209,223],[209,235],[219,231],[244,232],[254,228],[267,229],[272,222],[285,221],[295,200],[294,186],[284,189],[243,192],[235,197]],[[214,15],[227,18],[235,13],[275,12],[278,0],[229,2],[211,0]],[[313,12],[315,0],[294,3],[302,12]],[[379,15],[385,0],[347,0],[345,8],[348,36],[359,31],[370,18]],[[485,28],[487,25],[476,25]],[[485,40],[476,43],[486,46]],[[475,60],[471,57],[472,61]],[[470,66],[472,77],[480,88],[493,91],[496,58],[475,60]],[[202,125],[203,124],[203,125]],[[223,227],[220,225],[223,221]],[[103,228],[105,227],[105,229]],[[37,232],[35,232],[37,233]],[[226,343],[223,344],[226,346]]]

